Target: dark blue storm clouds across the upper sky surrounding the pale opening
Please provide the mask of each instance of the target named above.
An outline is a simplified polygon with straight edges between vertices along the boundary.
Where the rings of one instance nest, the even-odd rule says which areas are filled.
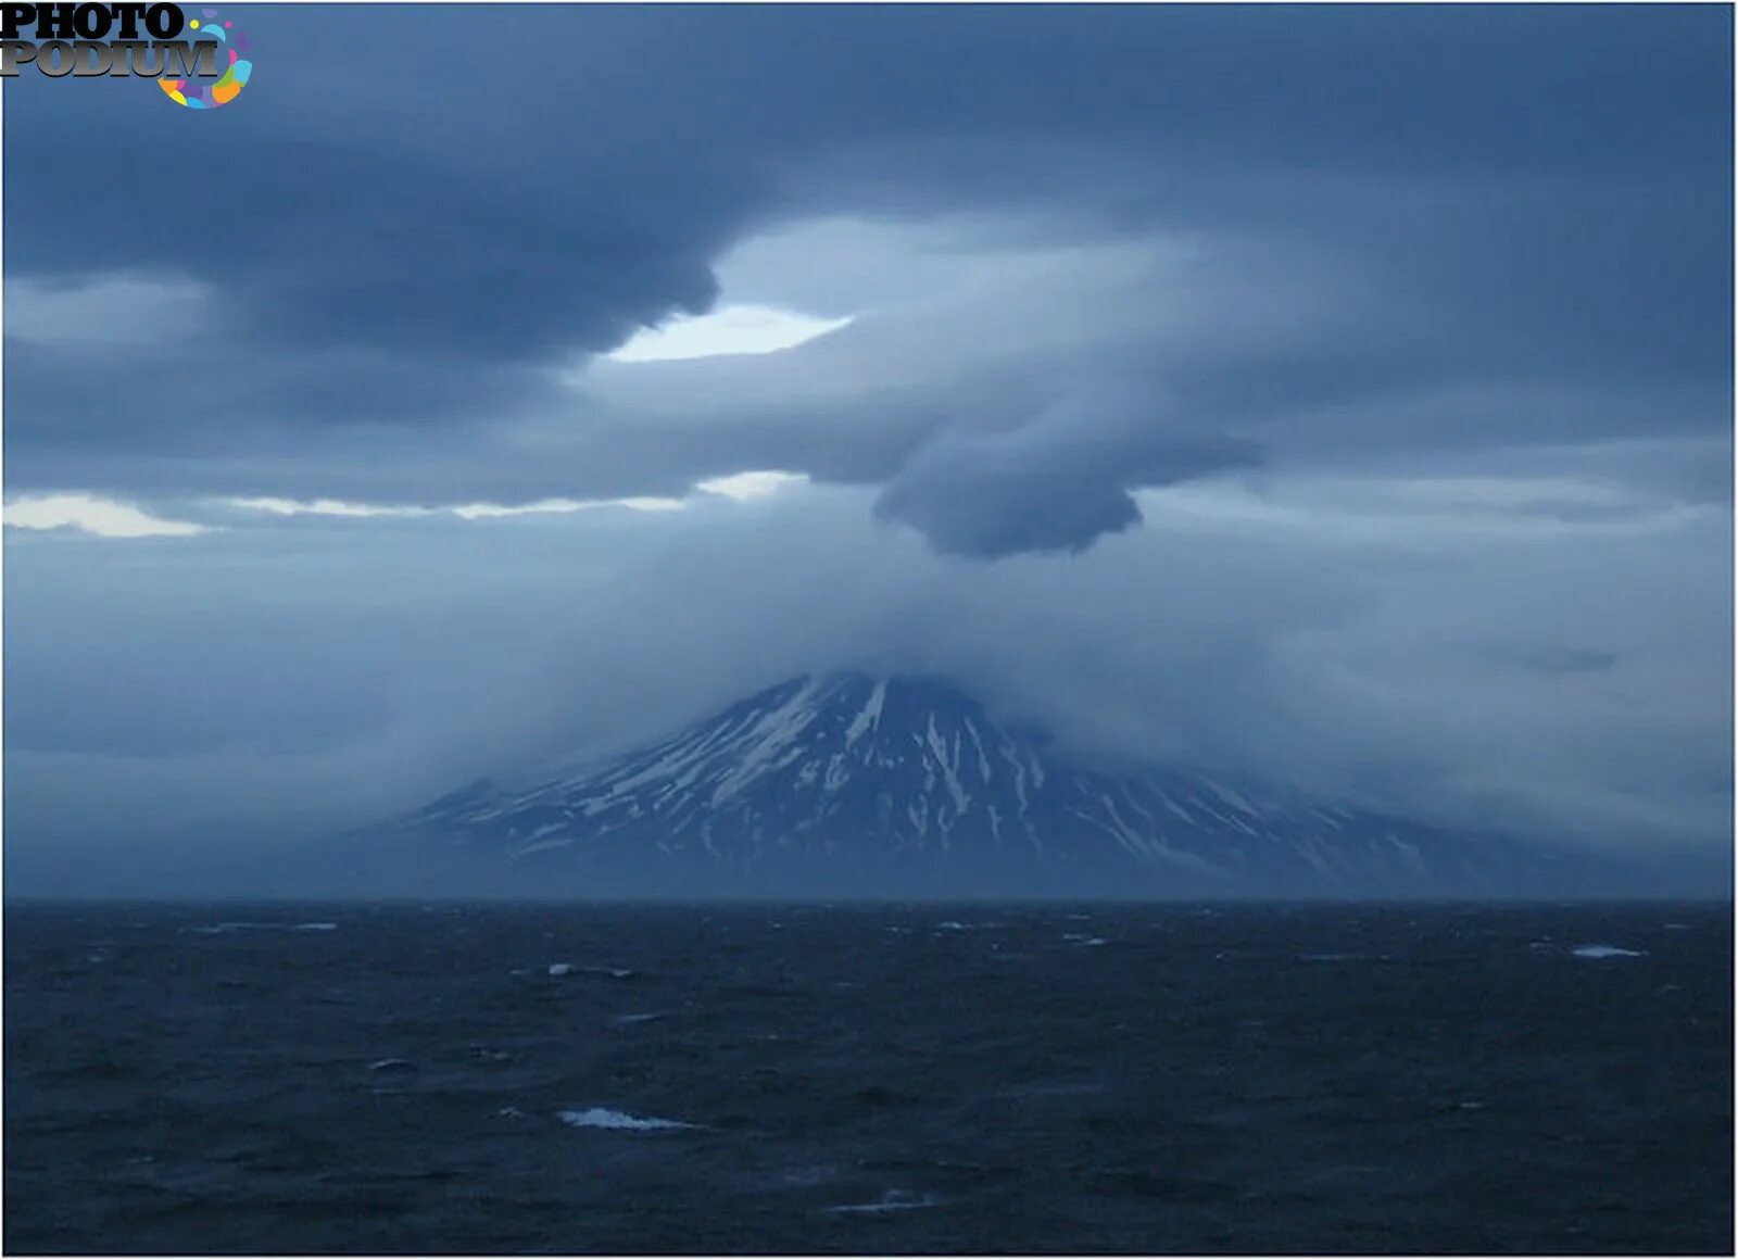
[[[1314,426],[1337,440],[1352,412],[1385,417],[1469,382],[1495,395],[1484,412],[1509,389],[1573,384],[1677,396],[1670,419],[1632,426],[1722,424],[1729,50],[1714,10],[1246,23],[1215,7],[431,7],[249,21],[266,68],[249,109],[196,120],[196,141],[176,111],[136,108],[137,83],[21,82],[7,130],[31,172],[7,207],[14,485],[438,501],[464,492],[450,461],[481,455],[502,464],[488,492],[523,502],[666,494],[773,464],[855,483],[902,474],[886,513],[939,546],[1001,554],[1126,527],[1130,483],[1215,471],[1211,448],[1243,462],[1309,443]],[[381,42],[391,59],[372,56]],[[530,47],[561,73],[525,73]],[[452,92],[459,68],[466,90]],[[87,158],[94,134],[101,162]],[[151,188],[177,153],[198,191],[115,210],[111,189]],[[200,212],[202,195],[222,212]],[[766,434],[720,398],[697,447],[683,433],[634,457],[657,417],[554,381],[641,325],[709,309],[732,243],[839,214],[999,217],[1020,240],[998,252],[1032,257],[1097,247],[1128,261],[1116,245],[1142,240],[1191,252],[1211,259],[1184,290],[1210,304],[1208,323],[1227,323],[1220,301],[1270,327],[1203,344],[1196,311],[1154,318],[1161,302],[1109,276],[1071,294],[1171,395],[1137,426],[1107,419],[1128,436],[1121,476],[1093,468],[1093,422],[1071,426],[1069,454],[1034,419],[1088,405],[1072,396],[1097,375],[1081,361],[1036,395],[1022,382],[1025,414],[935,382],[890,398],[930,419],[893,421],[892,448],[871,452],[817,438],[808,417]],[[992,238],[947,249],[996,250]],[[83,318],[111,327],[103,353],[64,335],[80,294]],[[56,301],[63,330],[33,332]],[[177,318],[162,320],[165,304]],[[1025,313],[1045,318],[1036,302]],[[1022,348],[1003,349],[1006,370]],[[141,389],[146,377],[174,384]],[[1561,438],[1589,424],[1575,408],[1526,412],[1460,426]],[[1394,424],[1383,417],[1356,426]],[[1178,424],[1194,452],[1182,459]],[[525,455],[516,438],[549,428],[568,441]],[[1034,447],[1074,471],[1022,488],[1031,474],[1013,468]],[[985,485],[959,448],[1010,471]],[[942,511],[949,469],[996,520]],[[1032,494],[1051,504],[1036,530]]]

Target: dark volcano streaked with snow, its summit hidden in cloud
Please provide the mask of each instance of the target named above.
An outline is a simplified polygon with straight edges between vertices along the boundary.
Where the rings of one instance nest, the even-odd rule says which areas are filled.
[[[1517,892],[1561,859],[1175,766],[1076,765],[947,681],[820,674],[626,756],[445,796],[436,834],[575,892],[659,872],[838,893]]]

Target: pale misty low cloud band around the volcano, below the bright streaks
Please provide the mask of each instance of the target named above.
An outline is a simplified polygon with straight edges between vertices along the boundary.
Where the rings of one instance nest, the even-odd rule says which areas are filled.
[[[1729,514],[1575,520],[1573,485],[1531,490],[1220,481],[1144,494],[1144,528],[1072,561],[992,567],[829,488],[650,521],[40,535],[9,554],[33,593],[7,634],[12,843],[269,848],[855,666],[952,674],[1081,756],[1717,852],[1729,608],[1698,579]],[[139,551],[90,582],[78,553],[116,546]]]

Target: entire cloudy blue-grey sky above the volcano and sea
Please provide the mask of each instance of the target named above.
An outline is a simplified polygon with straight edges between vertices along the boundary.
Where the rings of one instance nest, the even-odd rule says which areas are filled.
[[[233,19],[3,89],[14,893],[836,667],[1729,862],[1728,9]]]

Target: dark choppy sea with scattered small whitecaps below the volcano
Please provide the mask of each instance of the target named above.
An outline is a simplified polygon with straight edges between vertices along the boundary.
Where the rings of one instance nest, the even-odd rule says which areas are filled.
[[[3,1243],[1729,1253],[1731,998],[1728,907],[10,905]]]

